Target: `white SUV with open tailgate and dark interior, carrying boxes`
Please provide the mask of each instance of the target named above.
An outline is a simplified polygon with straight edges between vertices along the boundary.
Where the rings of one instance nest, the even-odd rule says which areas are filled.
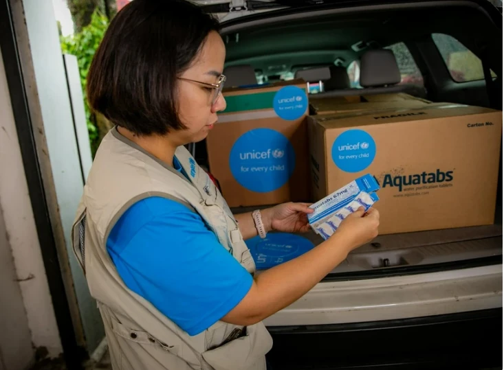
[[[338,67],[343,86],[314,78],[309,91],[358,94],[360,58],[390,49],[402,80],[382,92],[502,109],[502,14],[489,1],[196,2],[218,14],[226,68],[252,69],[248,83]],[[204,143],[195,154],[206,163]],[[380,235],[353,251],[265,320],[274,368],[501,367],[501,194],[499,180],[493,225]]]

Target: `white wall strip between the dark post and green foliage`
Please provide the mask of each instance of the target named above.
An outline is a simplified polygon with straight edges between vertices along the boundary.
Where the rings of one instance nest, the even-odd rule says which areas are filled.
[[[76,132],[52,0],[10,0],[39,165],[78,344],[105,336],[96,301],[70,246],[83,193]],[[82,153],[81,153],[82,154]]]

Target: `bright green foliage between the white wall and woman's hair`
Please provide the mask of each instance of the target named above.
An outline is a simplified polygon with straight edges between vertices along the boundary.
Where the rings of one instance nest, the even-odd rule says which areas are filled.
[[[91,16],[91,23],[83,27],[83,29],[70,36],[61,36],[61,49],[63,54],[73,54],[77,57],[78,67],[80,72],[80,84],[83,87],[84,93],[84,107],[86,112],[87,130],[89,132],[89,141],[91,144],[91,152],[94,153],[98,148],[98,128],[96,120],[91,115],[89,104],[87,104],[86,97],[86,78],[91,60],[93,59],[98,45],[102,41],[105,30],[109,25],[109,21],[98,9],[93,12]]]

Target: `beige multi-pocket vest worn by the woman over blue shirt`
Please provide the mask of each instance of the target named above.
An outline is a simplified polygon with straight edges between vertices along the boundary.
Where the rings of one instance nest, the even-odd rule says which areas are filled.
[[[189,336],[124,285],[107,253],[108,235],[124,211],[140,199],[162,196],[199,213],[223,248],[255,273],[254,260],[219,190],[184,147],[175,156],[190,180],[113,128],[100,144],[84,187],[72,243],[98,301],[113,370],[263,370],[272,347],[263,323],[242,327],[217,321]]]

